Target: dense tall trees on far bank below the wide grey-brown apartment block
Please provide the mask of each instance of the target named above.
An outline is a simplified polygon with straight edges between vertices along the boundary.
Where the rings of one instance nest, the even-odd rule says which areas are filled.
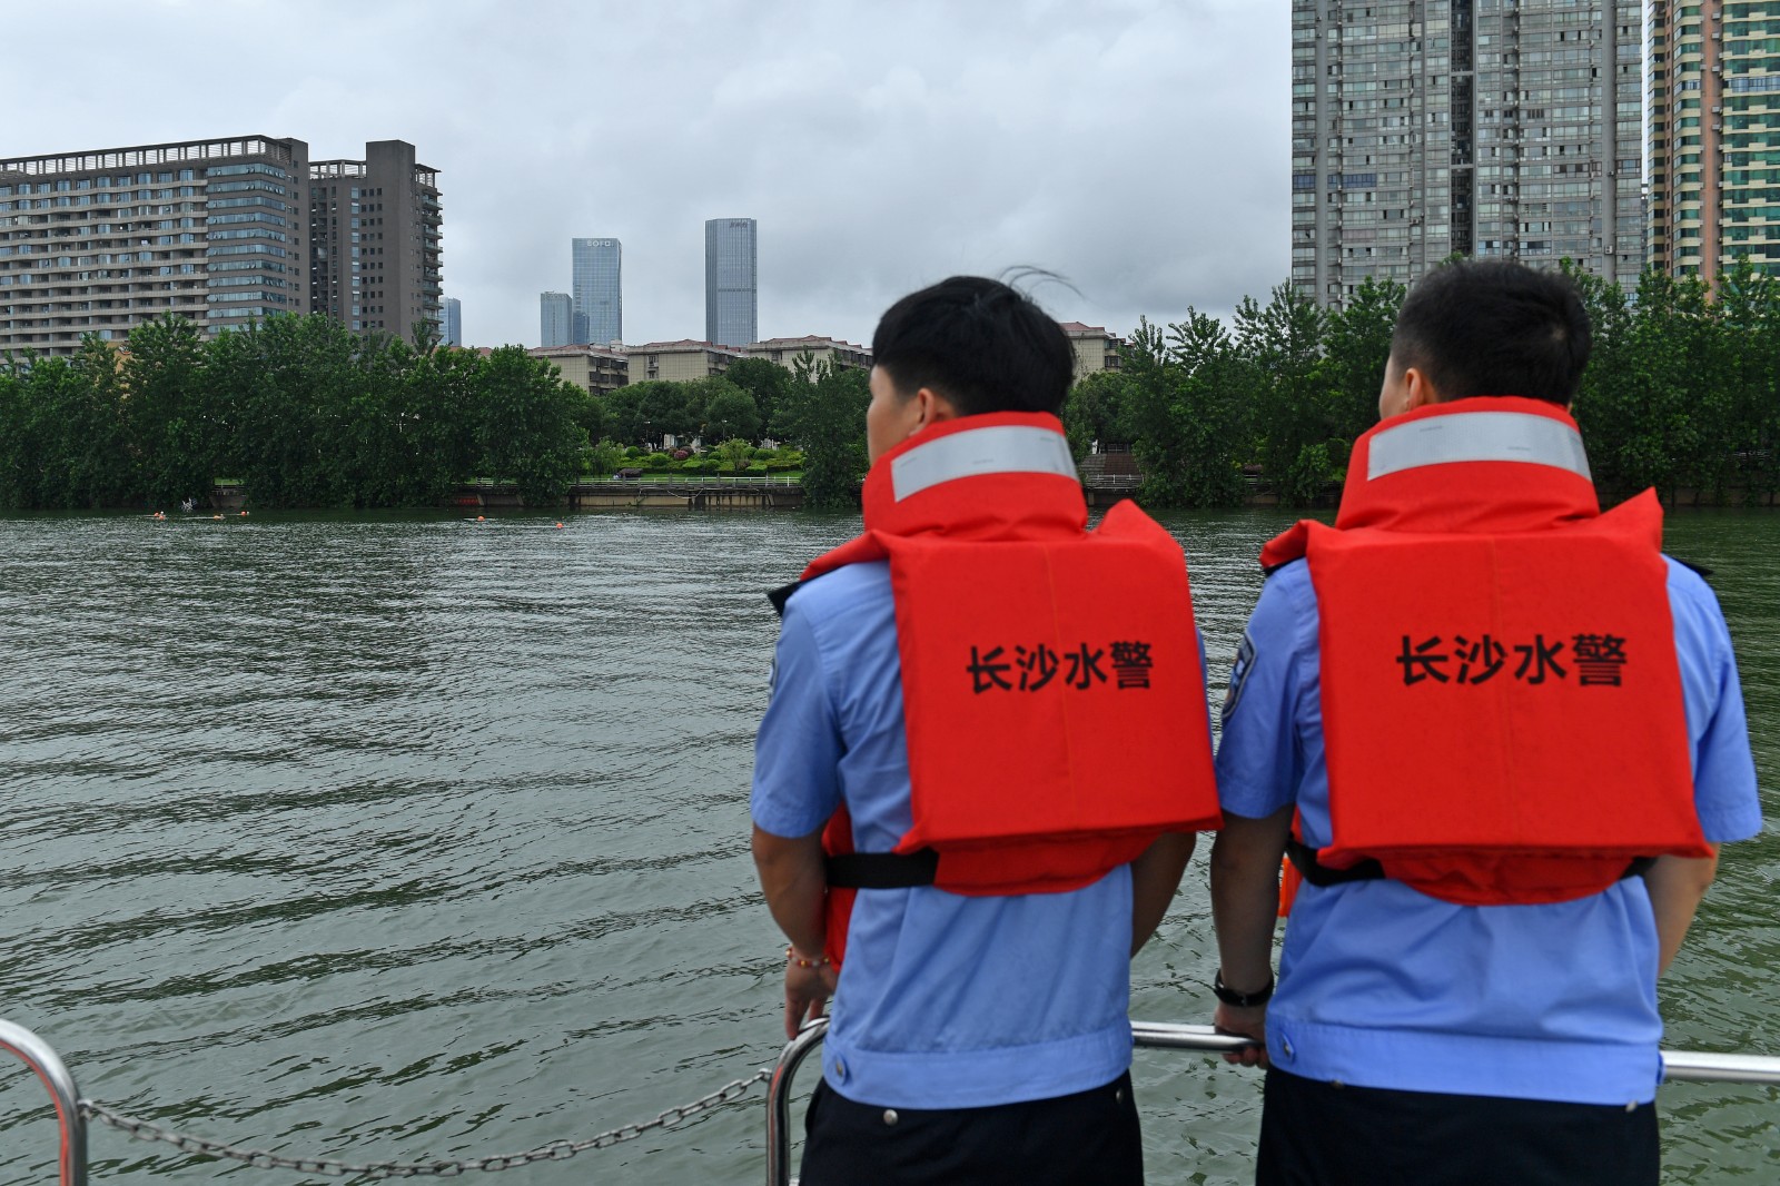
[[[475,475],[554,500],[598,411],[520,347],[490,354],[272,317],[185,319],[0,365],[0,508],[166,508],[219,477],[255,506],[436,506]]]

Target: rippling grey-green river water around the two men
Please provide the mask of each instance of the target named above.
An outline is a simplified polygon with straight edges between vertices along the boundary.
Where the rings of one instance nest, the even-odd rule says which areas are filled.
[[[1289,516],[1178,515],[1221,680]],[[287,1156],[470,1158],[653,1117],[767,1065],[783,940],[748,858],[762,589],[799,515],[0,520],[0,1017],[85,1095]],[[1780,515],[1679,513],[1780,778]],[[1602,739],[1611,744],[1611,739]],[[1773,826],[1663,985],[1668,1044],[1780,1054]],[[1205,853],[1134,969],[1203,1022]],[[817,1076],[801,1077],[806,1092]],[[1155,1182],[1248,1182],[1258,1074],[1137,1052]],[[753,1182],[762,1090],[525,1182]],[[1661,1095],[1668,1181],[1780,1177],[1780,1093]],[[0,1077],[0,1182],[55,1124]],[[93,1136],[96,1181],[233,1166]],[[253,1181],[322,1181],[235,1170]]]

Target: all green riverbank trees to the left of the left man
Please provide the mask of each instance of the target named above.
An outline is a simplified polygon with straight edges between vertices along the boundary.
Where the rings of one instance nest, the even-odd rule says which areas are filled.
[[[169,317],[126,349],[89,337],[71,358],[0,358],[0,509],[167,508],[217,479],[258,508],[438,506],[475,477],[548,506],[639,447],[700,435],[733,472],[765,435],[822,442],[797,465],[817,504],[840,506],[863,467],[863,374],[808,358],[593,395],[516,345],[438,349],[322,315],[206,340]]]

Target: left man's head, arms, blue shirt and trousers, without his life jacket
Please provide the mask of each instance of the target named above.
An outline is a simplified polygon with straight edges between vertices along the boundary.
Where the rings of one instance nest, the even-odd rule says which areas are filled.
[[[892,306],[872,340],[872,459],[936,418],[1057,413],[1063,329],[1007,285],[952,278]],[[910,830],[895,605],[885,563],[785,604],[760,723],[753,851],[790,940],[785,1029],[835,992],[799,1181],[1143,1181],[1129,962],[1178,887],[1191,835],[1059,894],[862,890],[846,972],[824,954],[821,833],[842,805],[860,851]]]

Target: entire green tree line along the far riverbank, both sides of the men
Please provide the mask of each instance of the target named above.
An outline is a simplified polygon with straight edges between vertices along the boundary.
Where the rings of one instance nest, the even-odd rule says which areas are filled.
[[[1780,281],[1746,262],[1716,285],[1646,272],[1632,294],[1575,278],[1595,326],[1575,415],[1602,493],[1771,504]],[[1129,445],[1152,508],[1326,497],[1378,418],[1403,296],[1367,281],[1330,312],[1280,285],[1228,322],[1193,308],[1143,321],[1118,370],[1072,390],[1072,445]],[[867,402],[865,372],[808,360],[595,395],[516,345],[440,349],[322,315],[206,340],[162,319],[125,349],[87,338],[66,360],[0,360],[0,509],[171,506],[208,495],[217,475],[255,508],[440,506],[477,477],[550,506],[619,468],[676,467],[799,472],[806,506],[846,509],[865,472]],[[714,449],[657,449],[694,435]]]

